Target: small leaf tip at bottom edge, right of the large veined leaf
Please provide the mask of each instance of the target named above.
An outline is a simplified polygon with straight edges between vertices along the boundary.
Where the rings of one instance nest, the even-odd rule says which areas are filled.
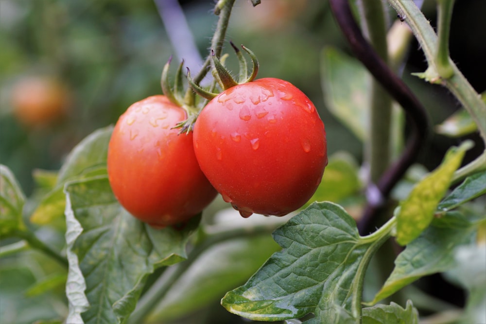
[[[363,308],[363,324],[418,324],[418,311],[410,300],[403,309],[395,303]]]

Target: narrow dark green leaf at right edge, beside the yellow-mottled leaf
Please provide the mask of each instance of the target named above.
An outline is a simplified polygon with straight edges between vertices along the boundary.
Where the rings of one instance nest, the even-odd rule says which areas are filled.
[[[466,178],[449,196],[439,203],[437,210],[441,213],[448,212],[484,194],[486,194],[486,171]]]

